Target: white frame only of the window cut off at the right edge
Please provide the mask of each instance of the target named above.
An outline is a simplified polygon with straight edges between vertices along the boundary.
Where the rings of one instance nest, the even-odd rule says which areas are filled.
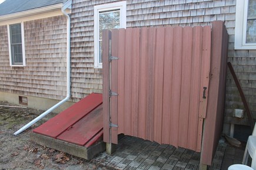
[[[237,0],[235,11],[235,49],[256,49],[256,43],[246,43],[248,0]]]

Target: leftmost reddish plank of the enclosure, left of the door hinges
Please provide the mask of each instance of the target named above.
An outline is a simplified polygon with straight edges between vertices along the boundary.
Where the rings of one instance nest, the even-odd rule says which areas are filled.
[[[109,143],[109,39],[111,32],[108,30],[103,31],[102,40],[102,60],[103,60],[103,131],[104,142]]]

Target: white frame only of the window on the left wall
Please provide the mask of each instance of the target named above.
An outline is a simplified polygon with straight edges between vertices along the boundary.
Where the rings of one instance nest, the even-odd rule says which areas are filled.
[[[25,40],[24,40],[24,22],[18,22],[21,23],[21,46],[22,46],[22,64],[12,64],[12,50],[11,50],[11,32],[10,32],[10,25],[15,24],[8,24],[7,30],[8,30],[8,45],[9,45],[9,62],[10,66],[13,67],[24,67],[26,66],[26,60],[25,60]]]

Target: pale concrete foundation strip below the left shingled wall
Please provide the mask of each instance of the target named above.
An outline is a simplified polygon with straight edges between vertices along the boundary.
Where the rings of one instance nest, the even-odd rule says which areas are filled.
[[[0,101],[7,101],[11,104],[16,104],[19,106],[24,106],[23,104],[19,104],[19,96],[24,96],[28,98],[28,106],[29,108],[36,108],[39,110],[48,110],[52,106],[54,106],[56,103],[59,102],[59,100],[49,99],[49,98],[41,98],[41,97],[34,97],[34,96],[25,96],[21,94],[12,94],[12,93],[5,93],[0,91]],[[72,106],[73,102],[65,102],[58,108],[56,108],[53,112],[54,113],[60,113],[61,111],[67,109],[68,107]]]

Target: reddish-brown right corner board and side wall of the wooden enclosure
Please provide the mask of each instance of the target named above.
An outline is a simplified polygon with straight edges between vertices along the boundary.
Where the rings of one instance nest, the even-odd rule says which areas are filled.
[[[224,36],[225,35],[225,36]],[[227,31],[224,22],[212,22],[211,32],[211,79],[209,83],[207,116],[204,120],[204,134],[202,138],[201,164],[211,165],[220,138],[222,128],[222,115],[224,106],[220,100],[225,97],[225,93],[220,86],[221,77],[225,76],[225,67],[227,66]],[[225,51],[225,53],[222,53]],[[225,63],[222,63],[225,62]],[[224,84],[224,83],[223,83]],[[223,86],[222,84],[222,86]]]

